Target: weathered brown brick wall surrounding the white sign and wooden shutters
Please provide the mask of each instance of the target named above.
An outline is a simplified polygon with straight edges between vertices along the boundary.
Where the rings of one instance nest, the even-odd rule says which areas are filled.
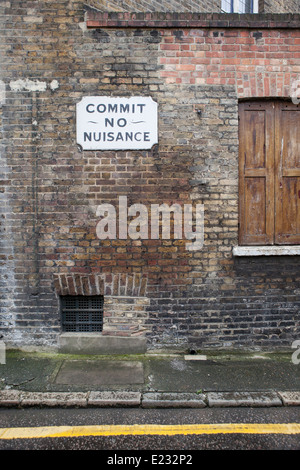
[[[107,322],[125,312],[147,328],[149,347],[290,347],[298,258],[238,259],[232,247],[238,99],[290,96],[299,18],[85,14],[67,0],[6,1],[1,13],[5,339],[55,346],[60,289],[92,288],[96,276]],[[159,144],[81,151],[75,107],[93,95],[151,96]],[[128,205],[204,204],[202,250],[186,240],[100,242],[96,208],[122,195]],[[137,276],[142,294],[132,290]]]

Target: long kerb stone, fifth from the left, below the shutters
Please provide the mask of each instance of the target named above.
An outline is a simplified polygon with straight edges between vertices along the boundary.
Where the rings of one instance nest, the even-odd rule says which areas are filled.
[[[281,406],[275,392],[209,392],[208,406]]]

